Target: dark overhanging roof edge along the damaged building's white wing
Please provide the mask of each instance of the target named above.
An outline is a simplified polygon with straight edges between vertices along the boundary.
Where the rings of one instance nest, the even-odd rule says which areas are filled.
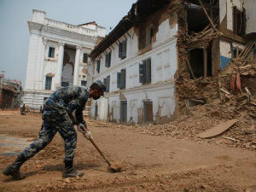
[[[132,4],[128,14],[119,21],[119,24],[90,52],[90,58],[95,60],[105,49],[108,49],[111,44],[122,37],[125,32],[129,31],[132,26],[137,26],[140,22],[146,20],[148,15],[154,14],[170,1],[171,0],[137,0],[137,3]]]

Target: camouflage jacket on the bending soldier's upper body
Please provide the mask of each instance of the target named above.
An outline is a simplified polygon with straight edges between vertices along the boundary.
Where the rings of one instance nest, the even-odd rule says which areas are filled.
[[[44,102],[44,108],[63,115],[65,119],[71,120],[73,125],[82,123],[86,126],[83,119],[83,110],[88,98],[89,91],[84,87],[65,87],[55,90]],[[74,110],[75,117],[72,114]]]

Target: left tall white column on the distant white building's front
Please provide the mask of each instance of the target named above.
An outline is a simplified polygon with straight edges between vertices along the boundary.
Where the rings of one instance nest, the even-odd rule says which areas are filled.
[[[63,56],[64,56],[64,44],[59,43],[59,57],[57,62],[57,71],[55,73],[55,88],[61,87]]]

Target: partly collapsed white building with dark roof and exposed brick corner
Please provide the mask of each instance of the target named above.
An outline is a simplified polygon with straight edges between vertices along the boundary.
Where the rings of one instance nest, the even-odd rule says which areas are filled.
[[[255,61],[255,8],[254,0],[137,0],[90,53],[92,81],[108,90],[91,116],[162,123],[218,97],[218,75],[234,58],[247,49]]]

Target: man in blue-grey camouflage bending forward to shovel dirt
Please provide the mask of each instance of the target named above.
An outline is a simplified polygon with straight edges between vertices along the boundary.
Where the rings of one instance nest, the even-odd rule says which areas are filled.
[[[3,170],[3,174],[13,177],[14,180],[24,178],[24,174],[20,174],[20,166],[45,148],[58,131],[65,143],[65,169],[62,177],[82,177],[84,172],[73,170],[74,149],[77,143],[77,133],[73,125],[77,125],[78,130],[83,131],[87,138],[91,137],[83,119],[84,105],[88,98],[92,97],[97,100],[103,96],[105,91],[106,87],[100,80],[91,84],[89,91],[79,86],[56,90],[44,102],[43,123],[38,138],[24,149],[14,163]],[[72,114],[74,110],[75,117]]]

